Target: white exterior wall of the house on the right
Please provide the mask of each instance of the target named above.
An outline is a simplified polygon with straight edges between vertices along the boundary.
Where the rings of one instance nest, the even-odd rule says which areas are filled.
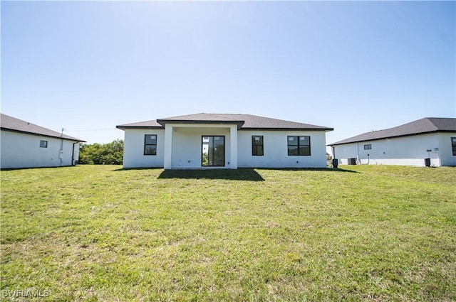
[[[451,149],[454,136],[432,133],[336,145],[333,156],[341,164],[347,164],[348,158],[357,158],[361,164],[425,166],[425,158],[430,158],[431,166],[455,166],[456,156],[452,156]],[[367,144],[372,149],[365,150]]]

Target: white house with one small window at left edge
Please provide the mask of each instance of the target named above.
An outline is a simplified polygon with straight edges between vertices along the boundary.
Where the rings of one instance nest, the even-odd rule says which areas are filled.
[[[83,140],[6,114],[0,118],[0,168],[71,166],[78,161]]]

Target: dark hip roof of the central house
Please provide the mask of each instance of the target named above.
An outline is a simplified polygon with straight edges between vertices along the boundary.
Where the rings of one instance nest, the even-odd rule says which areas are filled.
[[[289,122],[281,119],[271,119],[269,117],[259,117],[251,114],[208,114],[198,113],[182,115],[180,117],[167,117],[147,122],[123,124],[117,126],[118,129],[128,128],[162,128],[166,123],[173,124],[237,124],[238,129],[264,129],[264,130],[321,130],[331,131],[333,128],[316,126],[297,122]]]

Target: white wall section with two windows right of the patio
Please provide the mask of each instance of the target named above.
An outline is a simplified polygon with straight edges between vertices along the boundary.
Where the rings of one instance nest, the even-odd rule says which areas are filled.
[[[262,135],[264,155],[252,155],[252,136]],[[310,136],[310,156],[289,156],[287,136]],[[326,168],[324,131],[238,131],[238,166],[258,168]]]

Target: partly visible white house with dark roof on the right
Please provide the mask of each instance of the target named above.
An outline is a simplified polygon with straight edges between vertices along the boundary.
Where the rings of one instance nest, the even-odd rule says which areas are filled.
[[[329,146],[342,164],[456,166],[456,119],[425,117]]]

